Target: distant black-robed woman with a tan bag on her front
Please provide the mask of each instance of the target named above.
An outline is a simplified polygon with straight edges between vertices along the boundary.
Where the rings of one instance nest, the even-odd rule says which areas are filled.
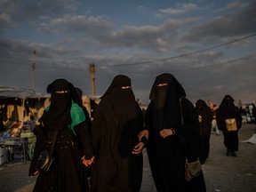
[[[227,156],[236,156],[238,151],[238,131],[242,127],[242,116],[234,104],[234,99],[230,95],[225,95],[217,111],[217,124],[223,132],[224,145],[227,148]],[[234,122],[232,130],[228,124]]]

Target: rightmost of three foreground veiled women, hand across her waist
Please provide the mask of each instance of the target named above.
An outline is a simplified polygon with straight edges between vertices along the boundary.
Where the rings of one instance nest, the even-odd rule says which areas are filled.
[[[146,111],[148,160],[158,192],[205,191],[203,172],[185,180],[185,161],[199,155],[199,124],[196,109],[171,74],[156,76]]]

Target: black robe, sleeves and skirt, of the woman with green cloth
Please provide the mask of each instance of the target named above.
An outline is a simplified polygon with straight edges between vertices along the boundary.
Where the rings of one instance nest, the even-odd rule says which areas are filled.
[[[58,132],[54,164],[49,172],[39,173],[33,191],[89,191],[87,174],[81,157],[83,155],[92,157],[92,143],[88,142],[90,138],[88,138],[88,126],[85,122],[77,124],[75,130],[77,136],[68,127]],[[39,156],[39,152],[44,148],[49,148],[46,146],[47,143],[52,142],[52,137],[52,131],[44,132],[44,127],[39,128],[35,155],[30,164],[29,175],[36,172],[36,159]],[[83,143],[83,147],[80,146],[81,143]],[[84,152],[82,153],[82,151]]]

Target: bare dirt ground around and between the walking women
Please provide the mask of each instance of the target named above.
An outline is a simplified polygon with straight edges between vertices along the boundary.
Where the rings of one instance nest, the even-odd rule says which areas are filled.
[[[223,136],[212,134],[209,160],[203,164],[208,192],[256,192],[256,145],[248,142],[256,133],[256,124],[243,124],[239,132],[239,151],[236,157],[226,156]],[[148,165],[146,150],[141,192],[156,192]],[[28,177],[29,162],[0,165],[1,192],[30,192],[36,177]]]

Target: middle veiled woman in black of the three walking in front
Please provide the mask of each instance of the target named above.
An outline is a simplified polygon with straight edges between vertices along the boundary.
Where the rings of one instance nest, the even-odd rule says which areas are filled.
[[[128,76],[115,76],[92,121],[92,192],[140,192],[143,116]]]

